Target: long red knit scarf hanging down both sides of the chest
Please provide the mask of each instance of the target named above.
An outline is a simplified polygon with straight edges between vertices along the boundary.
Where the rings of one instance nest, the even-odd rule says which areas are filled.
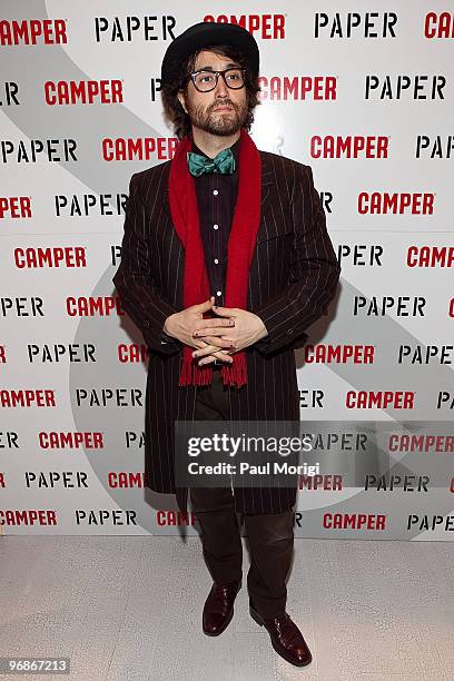
[[[228,239],[225,307],[246,309],[249,266],[260,221],[261,160],[253,139],[241,129],[239,144],[238,196],[231,231]],[[185,248],[184,307],[205,303],[210,295],[200,225],[195,178],[190,175],[187,152],[191,140],[184,137],[170,162],[169,204],[178,237]],[[205,317],[204,313],[204,318]],[[213,314],[208,314],[213,316]],[[182,348],[182,367],[178,385],[208,385],[213,365],[198,366],[193,357],[194,347]],[[240,387],[247,383],[246,353],[230,355],[233,363],[223,364],[224,385]]]

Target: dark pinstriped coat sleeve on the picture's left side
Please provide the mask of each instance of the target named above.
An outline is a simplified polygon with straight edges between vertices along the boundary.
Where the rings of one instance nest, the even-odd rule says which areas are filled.
[[[167,317],[177,310],[157,290],[149,249],[147,216],[137,175],[132,175],[126,204],[121,263],[112,282],[122,308],[141,330],[148,348],[174,355],[182,349],[182,343],[165,334],[162,327]]]

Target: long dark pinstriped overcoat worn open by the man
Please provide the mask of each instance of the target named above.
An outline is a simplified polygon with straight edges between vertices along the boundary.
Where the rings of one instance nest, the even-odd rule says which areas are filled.
[[[229,388],[230,420],[298,421],[294,349],[326,313],[340,268],[326,230],[310,166],[260,151],[260,225],[249,269],[247,307],[268,336],[245,349],[247,385]],[[195,386],[178,386],[182,344],[165,344],[166,318],[182,309],[185,249],[170,217],[170,162],[132,175],[126,206],[121,264],[114,284],[124,309],[142,332],[149,362],[145,405],[145,478],[176,494],[187,510],[188,490],[175,486],[175,421],[194,421]],[[243,513],[278,513],[296,502],[296,487],[235,487]]]

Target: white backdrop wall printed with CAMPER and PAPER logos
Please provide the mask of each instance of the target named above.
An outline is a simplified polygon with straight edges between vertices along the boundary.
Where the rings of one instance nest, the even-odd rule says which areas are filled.
[[[452,541],[454,6],[437,0],[1,3],[0,529],[196,533],[145,493],[146,348],[111,278],[129,178],[177,141],[162,55],[203,20],[257,39],[253,137],[313,168],[342,261],[296,352],[302,421],[426,422],[389,472],[303,478],[296,535]]]

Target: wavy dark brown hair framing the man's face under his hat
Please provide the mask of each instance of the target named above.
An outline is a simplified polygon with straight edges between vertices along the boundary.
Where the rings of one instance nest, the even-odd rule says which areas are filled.
[[[216,45],[204,47],[190,55],[190,57],[188,57],[188,59],[181,63],[177,78],[175,78],[171,83],[162,87],[161,97],[165,117],[174,128],[174,134],[178,137],[178,139],[182,139],[185,136],[191,136],[193,128],[190,118],[181,107],[177,95],[180,90],[185,92],[185,96],[187,95],[187,88],[190,83],[189,75],[195,69],[198,55],[204,50],[209,50],[210,52],[215,52],[221,57],[227,57],[231,61],[237,62],[241,68],[246,69],[245,88],[247,118],[243,127],[249,131],[254,122],[254,109],[260,103],[258,100],[258,92],[260,92],[258,76],[254,77],[251,75],[250,67],[241,51],[231,45]]]

